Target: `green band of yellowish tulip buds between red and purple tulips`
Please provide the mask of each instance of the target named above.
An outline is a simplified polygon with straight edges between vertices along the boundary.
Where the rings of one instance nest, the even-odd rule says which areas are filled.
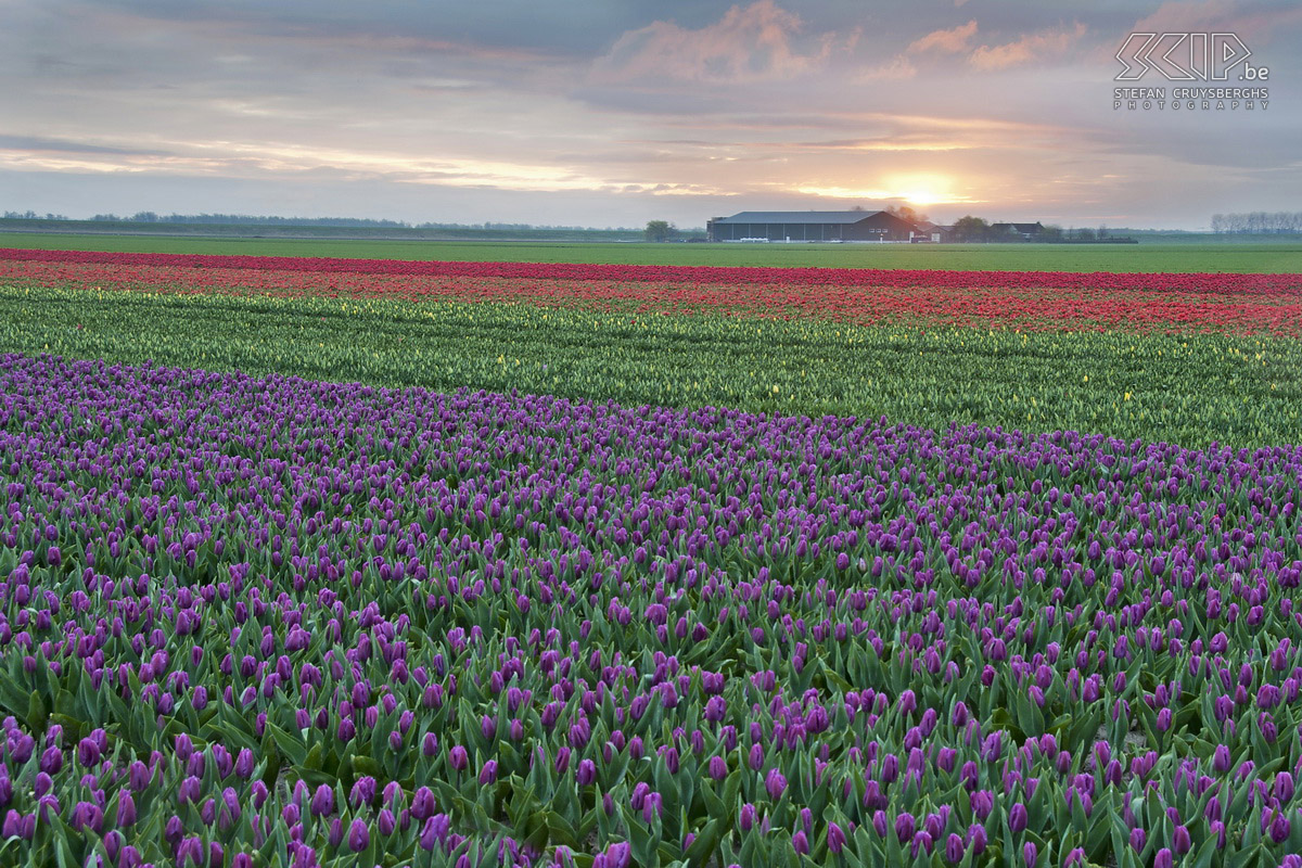
[[[0,351],[1203,445],[1297,441],[1302,344],[0,288]]]

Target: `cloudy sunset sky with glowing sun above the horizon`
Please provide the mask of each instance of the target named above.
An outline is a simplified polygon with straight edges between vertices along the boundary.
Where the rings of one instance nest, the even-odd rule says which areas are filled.
[[[911,204],[1199,229],[1302,210],[1295,0],[0,0],[0,211],[686,228]],[[1115,81],[1134,33],[1251,55],[1224,82]],[[1172,109],[1210,85],[1268,100]],[[1116,108],[1120,86],[1165,107]]]

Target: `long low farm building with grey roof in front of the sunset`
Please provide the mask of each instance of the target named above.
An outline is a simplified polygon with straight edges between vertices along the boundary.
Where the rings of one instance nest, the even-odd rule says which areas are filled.
[[[914,226],[885,211],[742,211],[706,224],[710,241],[909,241]]]

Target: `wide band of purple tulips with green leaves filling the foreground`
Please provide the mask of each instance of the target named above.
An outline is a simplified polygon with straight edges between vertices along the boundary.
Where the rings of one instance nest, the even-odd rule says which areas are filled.
[[[4,864],[1286,864],[1302,449],[0,359]]]

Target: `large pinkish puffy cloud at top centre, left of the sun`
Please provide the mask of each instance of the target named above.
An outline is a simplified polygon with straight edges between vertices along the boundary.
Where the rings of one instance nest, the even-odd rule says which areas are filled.
[[[812,51],[797,46],[802,22],[772,0],[732,7],[698,30],[655,21],[621,35],[594,65],[599,79],[751,82],[792,78],[822,66],[837,42],[819,36]],[[849,35],[850,44],[858,38]]]

